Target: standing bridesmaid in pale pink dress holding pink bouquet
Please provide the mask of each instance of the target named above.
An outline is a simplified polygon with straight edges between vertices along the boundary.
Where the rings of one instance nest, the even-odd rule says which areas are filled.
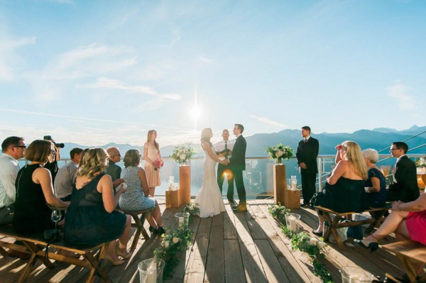
[[[160,145],[155,141],[155,138],[157,138],[157,131],[148,131],[146,143],[143,145],[144,168],[146,179],[148,179],[150,196],[154,196],[155,187],[161,184],[160,166],[163,164],[160,154]]]

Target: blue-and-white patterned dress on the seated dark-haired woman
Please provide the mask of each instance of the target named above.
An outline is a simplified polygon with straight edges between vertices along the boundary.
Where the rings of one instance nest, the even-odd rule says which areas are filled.
[[[119,200],[120,209],[129,211],[138,211],[144,209],[153,209],[155,199],[146,197],[143,194],[141,179],[138,172],[143,170],[141,167],[129,166],[121,170],[121,178],[127,184],[127,189],[124,194],[121,194]]]

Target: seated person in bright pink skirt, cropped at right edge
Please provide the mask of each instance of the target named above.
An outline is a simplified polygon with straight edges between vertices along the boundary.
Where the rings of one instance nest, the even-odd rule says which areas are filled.
[[[422,193],[415,201],[403,203],[394,201],[392,212],[376,232],[355,240],[361,247],[377,250],[378,241],[395,231],[397,240],[414,240],[426,245],[426,194]]]

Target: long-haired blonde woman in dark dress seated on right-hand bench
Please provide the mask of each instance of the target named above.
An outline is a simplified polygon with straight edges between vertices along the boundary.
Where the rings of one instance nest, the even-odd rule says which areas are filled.
[[[323,206],[337,212],[361,212],[368,209],[364,184],[367,179],[367,167],[359,145],[346,140],[337,145],[336,167],[322,192],[312,197],[313,206]],[[317,211],[320,226],[312,231],[322,235],[324,216]]]

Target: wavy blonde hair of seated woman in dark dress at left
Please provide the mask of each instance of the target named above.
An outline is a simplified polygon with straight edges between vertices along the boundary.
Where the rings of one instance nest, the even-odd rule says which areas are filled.
[[[83,157],[83,163],[77,171],[77,176],[94,177],[94,173],[103,172],[108,167],[109,155],[103,148],[92,148],[87,150]]]

